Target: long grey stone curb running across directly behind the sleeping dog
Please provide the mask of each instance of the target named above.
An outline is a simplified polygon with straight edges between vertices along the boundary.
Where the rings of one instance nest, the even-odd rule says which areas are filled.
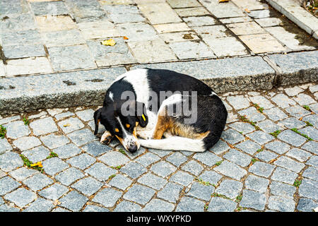
[[[318,81],[318,51],[140,64],[186,73],[207,83],[216,93],[269,90],[278,85]],[[0,112],[33,112],[37,109],[101,105],[105,90],[124,73],[123,66],[45,75],[1,78]],[[182,82],[182,81],[181,81]]]

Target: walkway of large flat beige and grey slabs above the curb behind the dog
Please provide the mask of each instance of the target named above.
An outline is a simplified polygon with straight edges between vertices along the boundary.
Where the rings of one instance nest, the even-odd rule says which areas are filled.
[[[102,40],[114,38],[114,47]],[[266,1],[1,0],[0,77],[314,50]],[[76,56],[76,57],[73,57]]]

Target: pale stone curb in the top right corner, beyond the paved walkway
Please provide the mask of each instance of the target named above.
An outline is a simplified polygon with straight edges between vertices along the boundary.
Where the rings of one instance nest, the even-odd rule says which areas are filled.
[[[279,0],[266,0],[273,8],[285,15],[293,23],[297,24],[302,30],[312,35],[318,40],[318,18],[312,16],[309,12],[297,4],[295,1],[279,1]]]

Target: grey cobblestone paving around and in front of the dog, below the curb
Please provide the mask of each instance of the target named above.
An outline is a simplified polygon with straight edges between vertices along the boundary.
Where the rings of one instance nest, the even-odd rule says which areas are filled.
[[[97,106],[1,116],[0,211],[317,208],[318,85],[220,97],[228,124],[204,153],[102,145]]]

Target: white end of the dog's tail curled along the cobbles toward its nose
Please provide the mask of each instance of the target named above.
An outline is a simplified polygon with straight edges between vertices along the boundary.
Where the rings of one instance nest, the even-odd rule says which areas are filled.
[[[202,153],[206,150],[206,148],[204,148],[204,141],[201,139],[190,139],[181,136],[170,136],[160,140],[139,139],[139,141],[141,146],[146,148],[161,150],[187,150],[196,153]]]

